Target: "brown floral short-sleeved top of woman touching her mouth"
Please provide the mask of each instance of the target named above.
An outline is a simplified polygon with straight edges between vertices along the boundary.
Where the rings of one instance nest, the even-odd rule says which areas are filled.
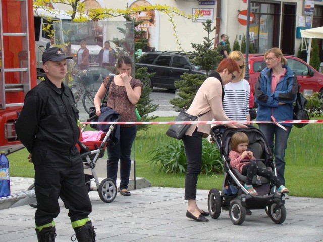
[[[103,84],[107,87],[109,83],[109,76],[103,80]],[[142,87],[142,82],[139,79],[132,78],[130,80],[132,89],[135,87]],[[112,80],[109,92],[107,93],[107,107],[114,109],[119,112],[121,121],[137,121],[136,107],[133,105],[127,96],[125,86],[118,86]],[[121,125],[123,127],[131,127],[133,125]]]

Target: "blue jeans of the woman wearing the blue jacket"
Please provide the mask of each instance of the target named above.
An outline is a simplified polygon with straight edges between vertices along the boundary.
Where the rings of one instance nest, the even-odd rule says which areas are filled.
[[[288,136],[292,130],[292,126],[284,126],[287,131],[273,124],[259,124],[259,129],[266,138],[269,148],[274,154],[277,170],[277,178],[285,186],[284,171],[285,171],[285,151],[287,148]],[[274,148],[275,136],[275,148]]]

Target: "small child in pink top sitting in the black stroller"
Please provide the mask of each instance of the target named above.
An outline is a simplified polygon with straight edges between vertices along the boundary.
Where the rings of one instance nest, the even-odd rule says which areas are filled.
[[[257,161],[253,156],[252,151],[247,151],[249,139],[243,132],[237,132],[231,137],[231,151],[229,158],[230,165],[233,169],[238,169],[242,175],[247,176],[247,181],[244,188],[247,189],[251,195],[257,196],[257,191],[252,186],[252,178],[254,175],[261,175],[267,177],[278,187],[278,192],[289,193],[289,190],[284,187],[281,181],[273,175],[273,172],[266,168],[257,167]]]

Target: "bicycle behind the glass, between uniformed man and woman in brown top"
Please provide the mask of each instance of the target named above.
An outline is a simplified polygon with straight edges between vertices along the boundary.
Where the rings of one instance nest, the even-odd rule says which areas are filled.
[[[89,71],[87,71],[84,75],[77,75],[74,74],[73,75],[73,79],[74,79],[74,84],[72,85],[72,88],[76,88],[77,84],[80,84],[80,87],[78,88],[76,94],[74,94],[74,98],[75,98],[75,106],[77,107],[77,103],[79,102],[79,100],[83,95],[82,98],[82,104],[84,107],[84,110],[90,114],[89,108],[94,106],[94,97],[95,94],[97,93],[97,90],[89,88],[89,86],[93,83],[93,78],[90,74]],[[74,93],[74,92],[73,92]]]

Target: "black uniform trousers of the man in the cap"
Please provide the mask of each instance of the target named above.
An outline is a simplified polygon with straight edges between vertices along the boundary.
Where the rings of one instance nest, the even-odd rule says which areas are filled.
[[[51,223],[60,213],[58,198],[69,209],[71,222],[88,218],[92,205],[87,193],[78,150],[55,152],[45,147],[33,150],[35,168],[36,226]]]

